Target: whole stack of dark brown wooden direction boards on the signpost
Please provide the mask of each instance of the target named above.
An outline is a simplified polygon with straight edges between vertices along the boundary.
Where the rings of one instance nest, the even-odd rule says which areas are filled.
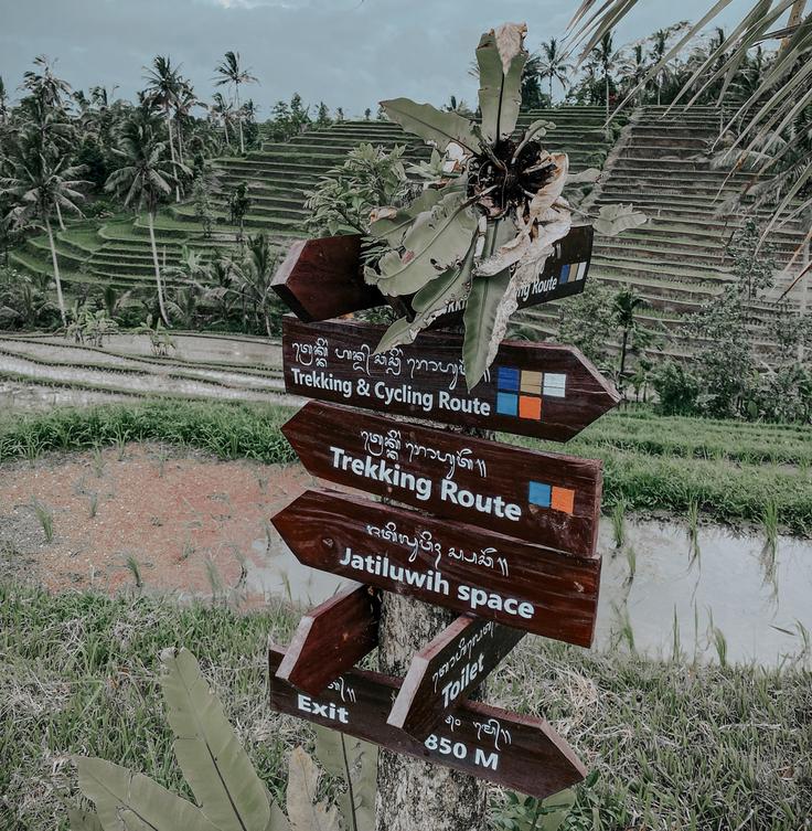
[[[591,228],[573,228],[520,307],[583,290],[591,244]],[[316,399],[284,433],[310,473],[354,492],[308,490],[271,521],[299,562],[361,586],[306,615],[287,651],[271,648],[271,706],[546,797],[585,776],[573,750],[546,722],[469,696],[525,633],[590,646],[601,466],[471,433],[565,441],[619,396],[570,347],[503,342],[472,391],[457,333],[376,354],[384,327],[330,319],[385,301],[361,275],[360,238],[333,237],[293,246],[274,283],[299,318],[282,326],[286,390]],[[436,322],[459,318],[449,307]],[[355,667],[389,648],[393,595],[459,616],[424,628],[404,678]]]

